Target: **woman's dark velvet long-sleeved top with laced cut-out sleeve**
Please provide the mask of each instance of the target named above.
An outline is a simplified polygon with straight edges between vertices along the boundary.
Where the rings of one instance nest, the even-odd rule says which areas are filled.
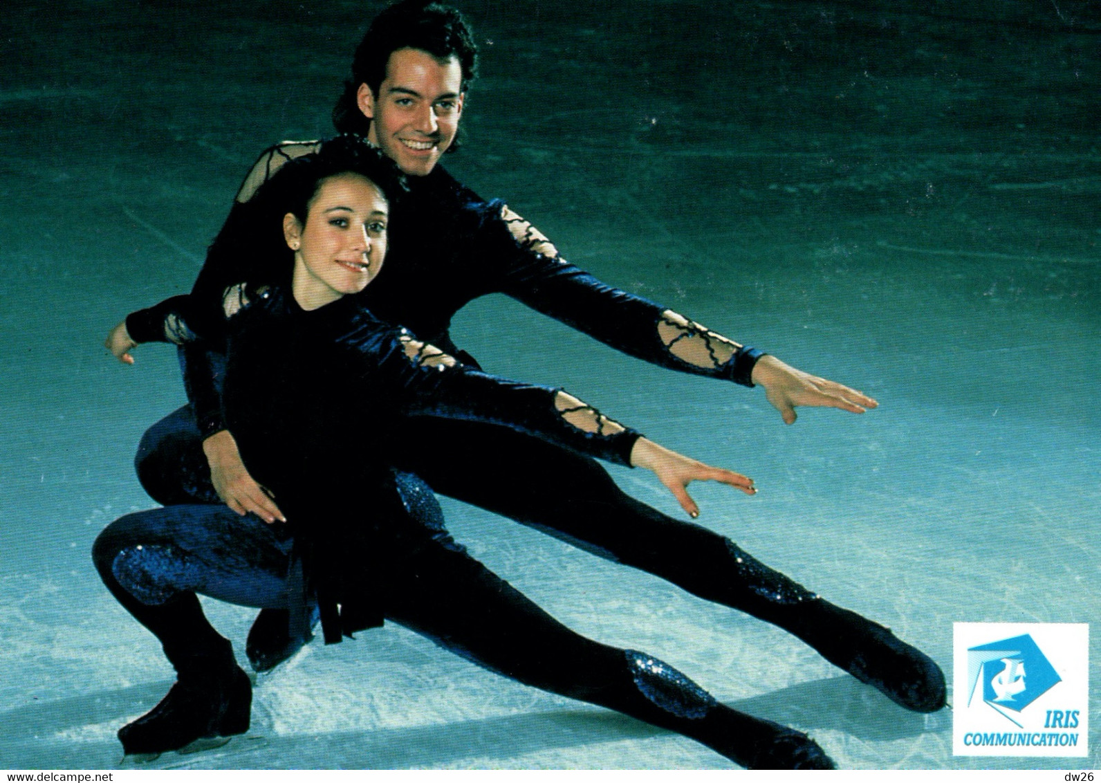
[[[377,594],[385,585],[373,575],[399,556],[381,542],[407,516],[390,454],[410,417],[503,424],[630,465],[637,433],[592,409],[586,415],[592,432],[567,423],[552,389],[426,363],[424,344],[351,297],[314,312],[275,287],[241,300],[222,394],[226,421],[253,478],[274,492],[295,536],[308,544],[303,557],[327,641],[339,641],[338,602],[345,633],[381,623],[385,600]],[[363,508],[366,519],[356,511]],[[368,583],[360,584],[364,574]]]

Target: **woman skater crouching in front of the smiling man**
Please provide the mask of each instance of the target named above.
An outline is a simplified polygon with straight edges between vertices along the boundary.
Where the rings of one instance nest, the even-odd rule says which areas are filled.
[[[244,463],[286,509],[287,524],[177,505],[123,516],[97,539],[103,581],[156,634],[178,675],[161,704],[119,731],[126,751],[163,752],[248,729],[249,679],[204,617],[200,591],[296,607],[291,618],[316,603],[327,642],[390,619],[505,676],[678,731],[744,766],[831,769],[805,735],[719,704],[645,653],[555,621],[458,546],[430,490],[393,469],[390,444],[406,437],[408,415],[429,413],[647,467],[682,491],[695,479],[753,491],[744,476],[664,449],[560,390],[465,368],[347,296],[382,268],[395,180],[381,153],[340,138],[285,165],[258,194],[258,204],[279,211],[253,251],[284,242],[293,271],[288,285],[227,293],[222,400]],[[214,328],[193,297],[166,307],[177,339]]]

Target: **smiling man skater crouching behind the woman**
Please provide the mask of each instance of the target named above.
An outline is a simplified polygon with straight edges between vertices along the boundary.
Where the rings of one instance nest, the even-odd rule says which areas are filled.
[[[875,405],[859,392],[601,283],[567,263],[503,203],[486,202],[456,182],[438,162],[455,148],[476,65],[477,48],[460,14],[423,1],[383,11],[356,52],[335,123],[339,130],[364,132],[410,175],[411,186],[397,207],[394,252],[361,294],[375,315],[477,366],[451,341],[451,317],[471,300],[502,292],[659,366],[764,385],[788,423],[797,404],[853,412]],[[220,302],[227,286],[270,280],[271,270],[258,268],[248,252],[253,237],[249,199],[285,161],[316,149],[316,142],[285,143],[261,156],[209,250],[195,295]],[[172,324],[159,315],[153,311],[132,317],[129,337],[164,339]],[[118,356],[129,358],[129,337],[116,335],[111,348]],[[220,498],[238,513],[281,519],[282,504],[250,476],[221,417],[217,379],[224,358],[189,345],[182,359],[192,404],[145,434],[135,458],[142,485],[165,504]],[[944,674],[920,651],[757,563],[728,539],[626,496],[591,458],[472,421],[422,416],[405,424],[405,434],[391,458],[435,491],[772,622],[904,707],[933,711],[944,706]],[[429,443],[432,448],[425,448]],[[686,510],[697,513],[694,505]],[[258,671],[276,665],[304,643],[307,637],[287,638],[286,628],[282,610],[261,612],[247,648]]]

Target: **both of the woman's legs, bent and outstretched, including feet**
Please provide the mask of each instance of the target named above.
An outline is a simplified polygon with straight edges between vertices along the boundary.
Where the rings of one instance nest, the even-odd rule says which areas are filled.
[[[388,536],[383,601],[391,619],[522,682],[679,731],[741,764],[830,765],[804,735],[718,704],[667,664],[569,631],[451,542],[430,494],[403,487],[403,499],[413,521]],[[119,732],[128,753],[248,729],[248,678],[195,590],[285,603],[288,548],[271,526],[210,505],[130,514],[100,534],[94,557],[105,583],[179,672],[168,696]]]

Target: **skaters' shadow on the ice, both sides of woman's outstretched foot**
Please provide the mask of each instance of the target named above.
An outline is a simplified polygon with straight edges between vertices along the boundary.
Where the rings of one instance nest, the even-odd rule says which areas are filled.
[[[0,715],[0,757],[21,766],[58,769],[415,769],[522,765],[729,766],[721,757],[685,738],[596,707],[566,706],[422,726],[369,730],[280,733],[263,704],[253,702],[252,726],[239,737],[199,740],[160,755],[123,757],[116,731],[154,705],[167,679],[42,702]],[[793,724],[833,742],[933,742],[949,729],[945,716],[907,713],[851,677],[805,682],[730,706]],[[324,711],[325,705],[315,704]],[[947,741],[947,740],[946,740]],[[615,747],[626,755],[620,762]],[[653,751],[653,754],[647,751]],[[936,755],[936,753],[930,753]],[[713,757],[713,758],[712,758]],[[573,759],[573,763],[569,761]],[[601,759],[603,761],[601,761]]]

